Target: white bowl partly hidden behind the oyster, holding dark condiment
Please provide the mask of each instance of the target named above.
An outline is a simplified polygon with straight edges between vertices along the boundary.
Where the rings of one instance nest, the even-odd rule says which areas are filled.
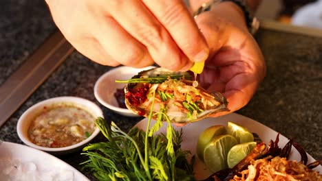
[[[114,97],[116,89],[124,88],[126,84],[116,83],[115,80],[129,80],[133,75],[138,74],[140,71],[147,69],[153,69],[155,67],[145,67],[142,69],[136,69],[133,67],[117,67],[111,69],[107,73],[98,78],[94,86],[94,95],[96,99],[103,104],[103,106],[113,110],[114,112],[127,117],[139,117],[138,114],[133,113],[127,108],[120,108],[118,102]]]

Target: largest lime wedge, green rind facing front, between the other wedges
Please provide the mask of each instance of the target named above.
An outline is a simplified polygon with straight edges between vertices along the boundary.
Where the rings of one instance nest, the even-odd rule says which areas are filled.
[[[228,134],[216,136],[204,148],[204,163],[213,172],[226,169],[227,154],[231,147],[237,145],[233,136]]]

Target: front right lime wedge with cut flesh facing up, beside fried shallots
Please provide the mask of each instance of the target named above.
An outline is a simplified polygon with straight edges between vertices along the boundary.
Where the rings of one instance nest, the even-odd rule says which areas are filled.
[[[248,143],[241,143],[241,144],[238,144],[238,145],[233,146],[229,150],[228,155],[227,155],[227,164],[228,164],[228,167],[231,169],[235,165],[237,165],[237,163],[239,163],[248,154],[250,154],[250,152],[252,151],[252,149],[255,146],[256,146],[256,142],[255,141],[248,142]]]

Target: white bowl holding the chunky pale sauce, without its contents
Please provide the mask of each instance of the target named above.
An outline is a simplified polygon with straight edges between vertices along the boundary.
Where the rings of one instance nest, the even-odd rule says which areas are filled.
[[[34,106],[31,106],[26,110],[18,120],[17,123],[17,134],[21,141],[30,147],[34,147],[36,149],[41,149],[45,152],[50,154],[59,155],[59,154],[68,154],[71,152],[76,152],[92,141],[92,139],[97,136],[100,130],[96,127],[94,132],[85,140],[81,141],[80,143],[76,143],[75,145],[70,145],[67,147],[41,147],[36,145],[30,141],[28,136],[28,129],[30,127],[30,123],[35,119],[36,116],[39,115],[40,112],[43,112],[44,106],[52,106],[58,103],[67,103],[72,104],[73,106],[82,108],[87,110],[87,112],[91,113],[95,118],[96,117],[103,117],[103,111],[96,105],[94,102],[89,101],[87,99],[83,99],[81,97],[54,97],[51,99],[46,99],[44,101],[40,101]],[[94,121],[94,120],[93,120]]]

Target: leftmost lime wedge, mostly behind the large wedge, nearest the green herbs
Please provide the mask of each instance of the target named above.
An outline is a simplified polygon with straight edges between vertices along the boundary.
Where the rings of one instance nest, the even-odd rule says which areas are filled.
[[[215,136],[223,134],[226,134],[226,128],[224,125],[213,125],[209,128],[206,128],[206,130],[200,134],[196,148],[197,156],[200,158],[200,160],[204,160],[204,147],[206,147],[211,139]]]

